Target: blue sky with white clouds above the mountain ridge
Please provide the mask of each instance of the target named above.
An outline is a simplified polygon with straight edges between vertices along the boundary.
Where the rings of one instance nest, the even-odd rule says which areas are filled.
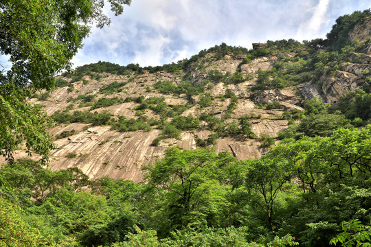
[[[74,67],[99,60],[156,66],[227,43],[325,38],[337,17],[370,0],[132,0],[110,27],[93,28]]]

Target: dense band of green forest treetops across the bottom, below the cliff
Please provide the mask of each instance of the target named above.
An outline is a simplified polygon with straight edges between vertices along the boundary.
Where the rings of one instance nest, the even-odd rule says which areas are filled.
[[[370,140],[371,126],[341,128],[330,137],[287,140],[246,161],[170,148],[145,168],[143,184],[91,182],[77,168],[52,172],[23,159],[2,165],[0,196],[23,207],[14,231],[27,222],[30,233],[38,228],[39,239],[60,246],[317,247],[330,239],[363,246],[370,235],[362,225],[371,219]],[[344,221],[350,223],[341,233]]]

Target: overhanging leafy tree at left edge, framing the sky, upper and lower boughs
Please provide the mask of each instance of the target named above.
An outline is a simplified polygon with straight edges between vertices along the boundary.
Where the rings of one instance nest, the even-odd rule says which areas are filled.
[[[131,0],[109,0],[122,13]],[[53,89],[56,73],[71,67],[91,25],[109,25],[104,1],[9,0],[0,3],[0,54],[11,67],[0,74],[0,154],[10,158],[22,139],[47,161],[53,148],[43,111],[25,101],[27,91]]]

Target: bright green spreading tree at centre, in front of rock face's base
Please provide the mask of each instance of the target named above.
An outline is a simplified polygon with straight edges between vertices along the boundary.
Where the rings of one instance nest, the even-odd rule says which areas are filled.
[[[146,167],[148,185],[163,192],[162,217],[169,220],[166,231],[207,223],[221,224],[227,211],[225,199],[226,171],[236,158],[227,152],[212,150],[179,150],[170,148],[155,166]],[[160,193],[161,193],[160,192]]]

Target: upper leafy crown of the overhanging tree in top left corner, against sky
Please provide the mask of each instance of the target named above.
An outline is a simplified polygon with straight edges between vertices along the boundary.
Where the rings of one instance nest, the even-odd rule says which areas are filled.
[[[111,1],[113,11],[121,14],[122,5],[131,1]],[[109,24],[98,1],[59,2],[10,1],[1,3],[1,52],[10,56],[12,68],[2,71],[1,84],[52,89],[54,75],[69,69],[71,58],[89,35],[91,23]],[[53,6],[53,8],[52,8]],[[32,61],[32,62],[30,62]]]

